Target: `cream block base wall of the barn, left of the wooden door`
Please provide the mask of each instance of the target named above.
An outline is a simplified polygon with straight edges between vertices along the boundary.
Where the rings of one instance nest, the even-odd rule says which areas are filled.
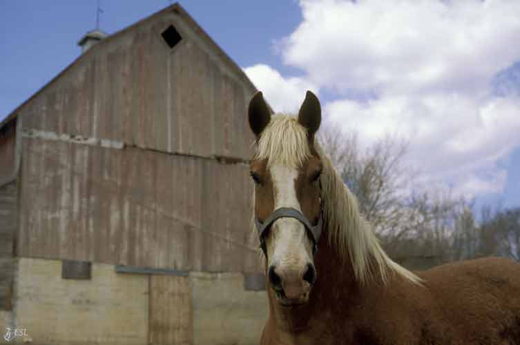
[[[1,329],[26,328],[33,344],[148,344],[147,294],[148,277],[110,265],[93,264],[91,280],[61,279],[61,262],[22,258]]]

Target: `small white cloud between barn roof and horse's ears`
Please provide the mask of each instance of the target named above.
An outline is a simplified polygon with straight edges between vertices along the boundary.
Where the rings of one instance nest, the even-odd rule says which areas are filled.
[[[298,77],[285,78],[277,70],[264,65],[244,68],[247,77],[261,90],[275,112],[298,112],[305,99],[305,92],[317,93],[313,83]]]

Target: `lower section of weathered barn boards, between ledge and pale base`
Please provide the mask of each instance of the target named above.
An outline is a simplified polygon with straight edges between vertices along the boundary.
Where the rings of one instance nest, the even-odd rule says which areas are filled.
[[[19,255],[260,270],[246,164],[23,138]]]

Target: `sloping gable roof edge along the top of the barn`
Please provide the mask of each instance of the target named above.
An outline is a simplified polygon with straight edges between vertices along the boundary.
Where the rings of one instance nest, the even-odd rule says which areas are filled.
[[[23,106],[26,106],[26,104],[28,104],[30,101],[32,101],[32,99],[34,99],[37,95],[39,95],[41,92],[46,90],[46,88],[48,88],[53,83],[55,83],[55,81],[57,81],[61,76],[63,76],[70,68],[73,68],[73,66],[76,66],[79,63],[79,61],[83,61],[83,59],[88,59],[88,55],[91,55],[93,51],[95,51],[99,48],[99,46],[110,44],[111,42],[113,42],[116,39],[118,39],[119,37],[121,37],[124,33],[128,32],[130,30],[133,30],[134,28],[137,28],[137,26],[140,26],[144,23],[148,23],[148,21],[153,21],[157,17],[160,17],[162,14],[167,13],[167,12],[175,12],[175,14],[179,15],[188,24],[188,26],[193,30],[193,32],[195,32],[195,34],[198,34],[198,36],[201,37],[202,40],[205,41],[212,50],[215,50],[218,57],[220,59],[222,59],[222,62],[224,62],[227,66],[229,66],[229,68],[231,68],[231,70],[235,71],[235,73],[238,75],[238,77],[240,77],[240,79],[242,79],[242,81],[249,84],[249,86],[251,86],[253,88],[253,90],[256,90],[256,86],[254,86],[254,84],[251,82],[249,77],[247,77],[247,75],[242,70],[242,68],[240,68],[240,66],[238,66],[235,63],[235,61],[233,61],[231,59],[231,57],[229,57],[226,54],[226,52],[224,52],[224,50],[222,50],[222,48],[220,48],[220,46],[218,46],[218,44],[215,43],[215,41],[213,41],[213,39],[211,39],[209,34],[207,34],[198,25],[198,23],[188,14],[188,12],[186,12],[186,10],[184,10],[184,8],[182,8],[182,6],[180,6],[179,3],[174,3],[173,5],[168,6],[168,7],[164,8],[163,10],[160,10],[159,12],[155,12],[154,14],[151,14],[151,16],[146,17],[145,19],[137,21],[137,23],[134,23],[131,26],[128,26],[118,32],[115,32],[114,34],[111,34],[110,36],[106,37],[105,39],[102,39],[102,41],[99,41],[95,46],[88,49],[86,52],[79,55],[79,57],[77,57],[77,59],[75,59],[72,63],[70,63],[70,65],[68,65],[64,70],[59,72],[56,75],[56,77],[52,78],[48,83],[46,83],[39,90],[37,90],[37,92],[35,92],[31,97],[29,97],[28,99],[26,99],[26,101],[24,101],[19,106],[17,106],[17,108],[15,108],[15,110],[12,110],[12,112],[10,112],[10,114],[0,122],[0,129],[3,128],[4,126],[6,126],[6,124],[8,124],[13,119],[16,119],[18,116],[18,112],[21,110],[21,108],[23,108]]]

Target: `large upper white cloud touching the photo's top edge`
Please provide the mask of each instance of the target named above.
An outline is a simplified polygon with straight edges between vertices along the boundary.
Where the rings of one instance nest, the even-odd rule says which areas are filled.
[[[300,1],[303,21],[278,43],[318,86],[479,92],[520,59],[519,1]]]

